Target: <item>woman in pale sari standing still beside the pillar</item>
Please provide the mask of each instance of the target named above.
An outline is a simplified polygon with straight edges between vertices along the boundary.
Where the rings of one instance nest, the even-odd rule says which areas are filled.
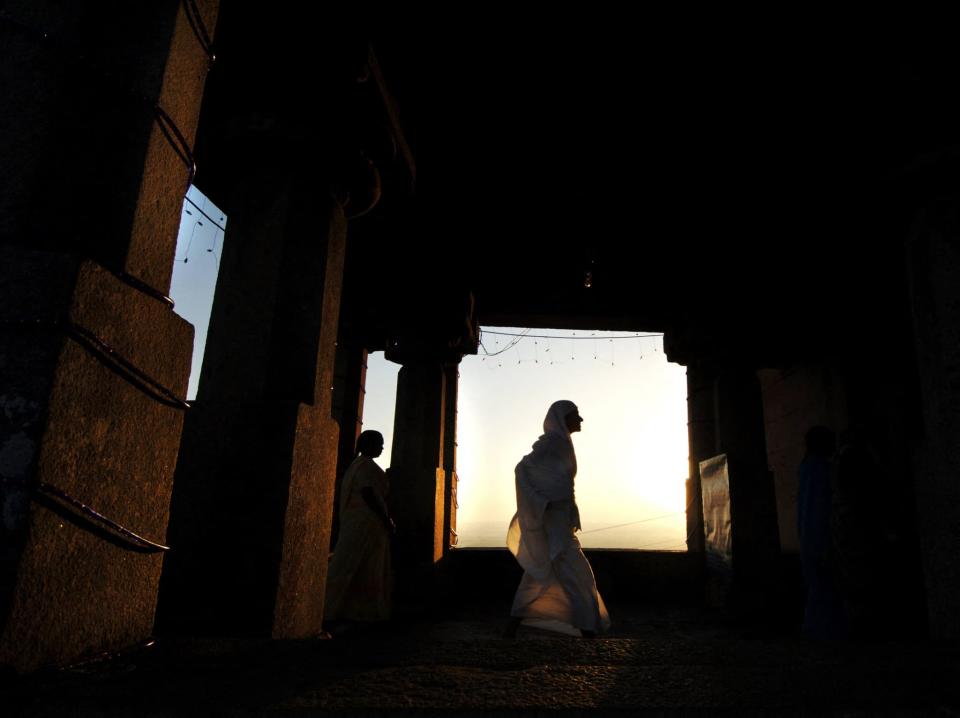
[[[327,574],[324,618],[334,622],[382,621],[390,617],[390,537],[387,476],[374,458],[383,435],[364,431],[357,457],[340,489],[340,534]]]

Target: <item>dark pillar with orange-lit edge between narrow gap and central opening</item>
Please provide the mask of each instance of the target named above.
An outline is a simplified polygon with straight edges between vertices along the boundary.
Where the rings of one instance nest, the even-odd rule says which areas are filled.
[[[397,376],[390,507],[397,523],[398,603],[420,603],[443,557],[447,376],[443,363],[407,361]]]

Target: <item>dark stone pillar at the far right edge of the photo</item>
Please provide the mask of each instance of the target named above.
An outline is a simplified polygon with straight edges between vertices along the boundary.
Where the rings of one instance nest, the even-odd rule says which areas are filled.
[[[960,637],[960,211],[931,202],[908,241],[923,403],[914,457],[931,634]]]

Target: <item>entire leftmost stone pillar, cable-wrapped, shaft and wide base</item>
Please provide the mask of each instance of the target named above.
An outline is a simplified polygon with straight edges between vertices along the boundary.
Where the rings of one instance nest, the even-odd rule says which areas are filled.
[[[76,502],[166,543],[193,332],[164,295],[209,67],[192,28],[212,34],[218,3],[195,7],[0,16],[0,664],[17,670],[153,629],[159,553]]]

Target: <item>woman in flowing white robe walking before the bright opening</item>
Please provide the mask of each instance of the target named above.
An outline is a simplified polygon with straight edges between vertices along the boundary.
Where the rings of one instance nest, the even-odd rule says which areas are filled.
[[[580,431],[582,421],[576,404],[554,402],[544,419],[543,435],[517,464],[517,513],[510,522],[507,547],[523,567],[523,578],[513,599],[508,636],[521,622],[583,636],[610,627],[576,535],[577,457],[570,434]]]

